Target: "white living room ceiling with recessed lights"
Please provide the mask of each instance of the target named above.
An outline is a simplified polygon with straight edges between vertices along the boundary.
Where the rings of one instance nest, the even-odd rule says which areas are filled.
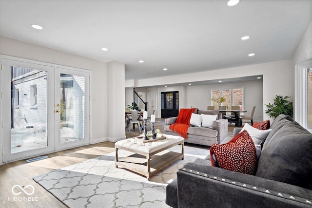
[[[124,63],[126,79],[290,59],[311,20],[312,0],[0,0],[1,36]]]

